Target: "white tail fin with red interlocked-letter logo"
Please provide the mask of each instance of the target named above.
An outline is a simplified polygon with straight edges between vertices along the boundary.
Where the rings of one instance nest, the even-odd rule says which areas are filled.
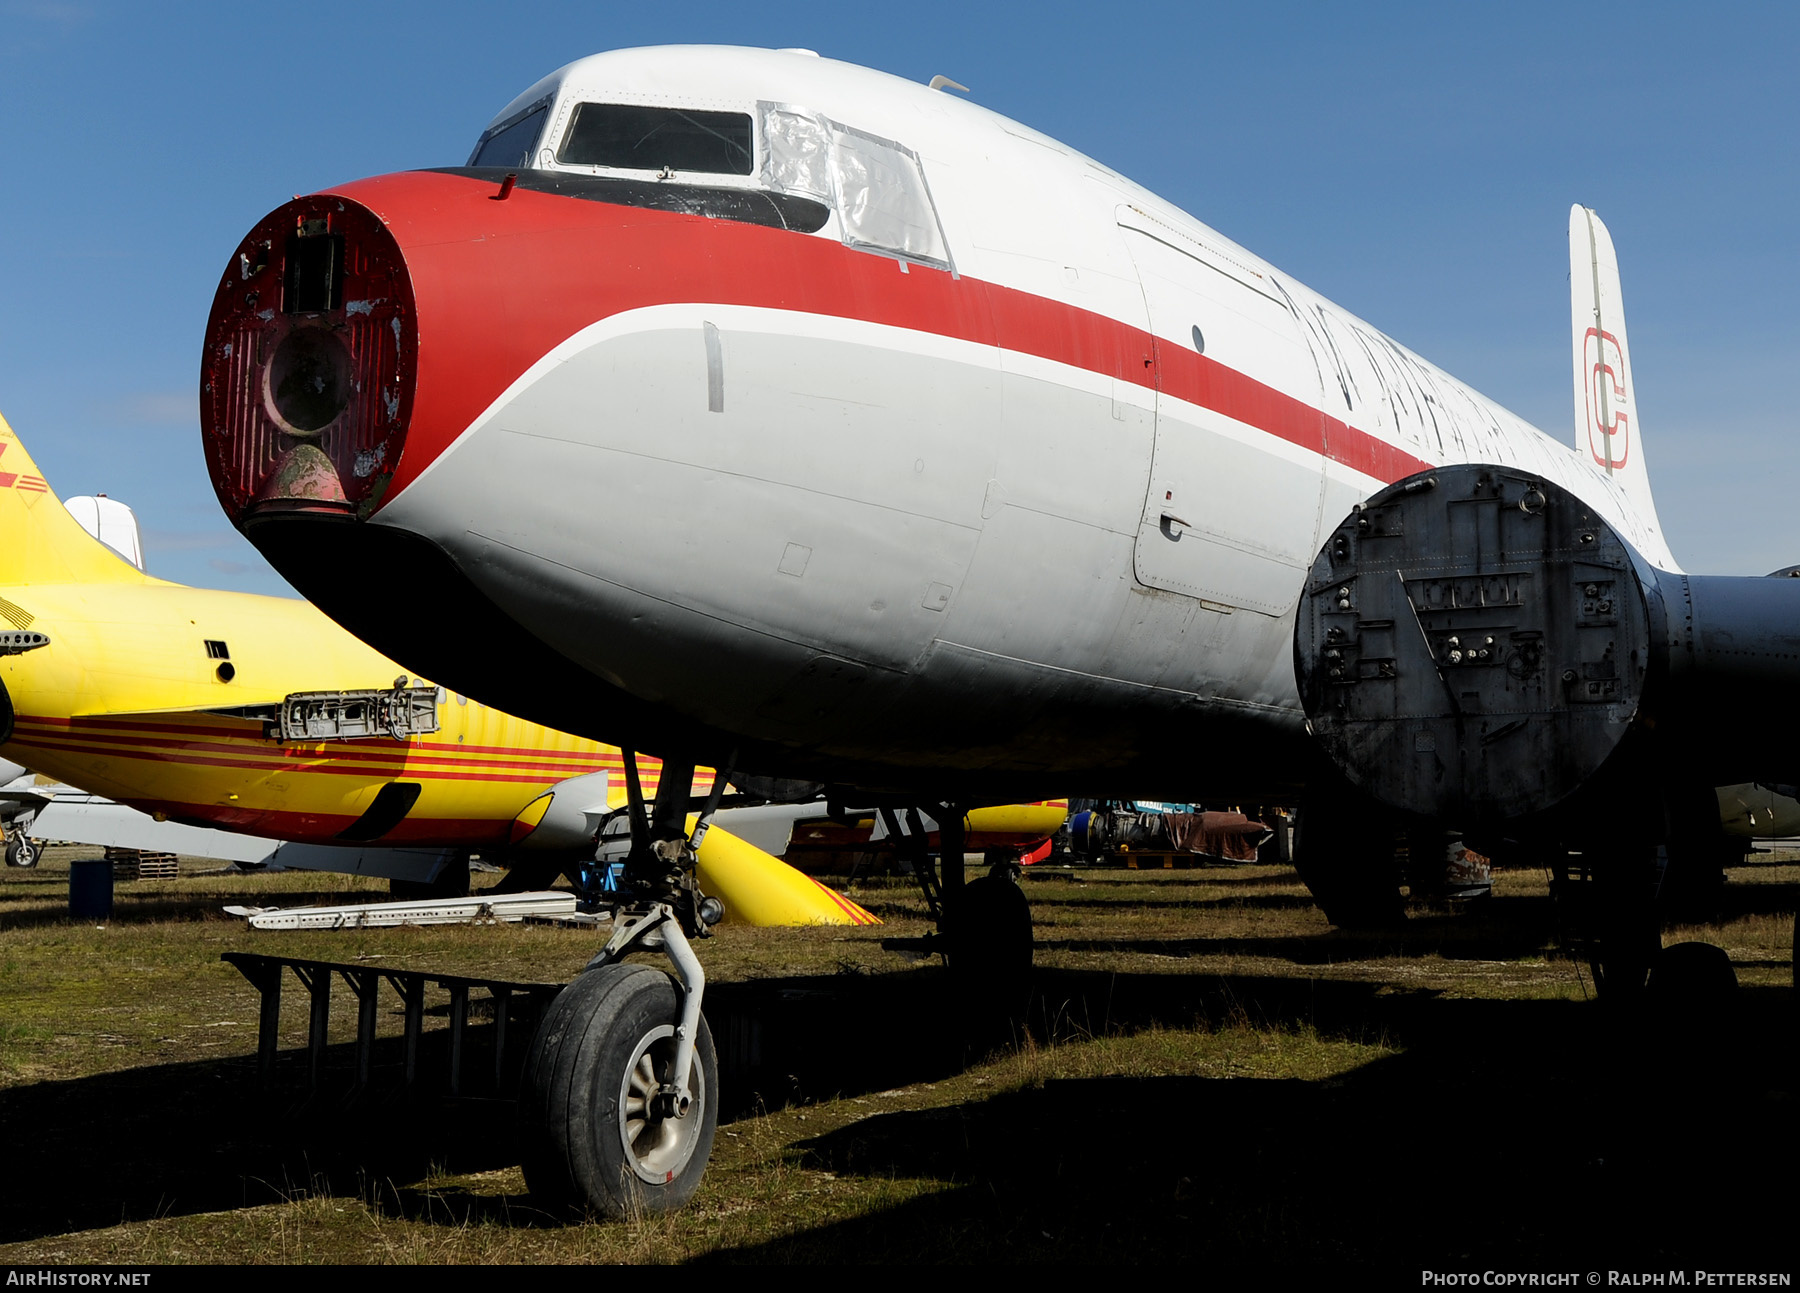
[[[1600,216],[1582,205],[1570,207],[1570,324],[1575,450],[1613,477],[1643,524],[1661,538],[1663,526],[1656,519],[1651,475],[1643,465],[1618,256]]]

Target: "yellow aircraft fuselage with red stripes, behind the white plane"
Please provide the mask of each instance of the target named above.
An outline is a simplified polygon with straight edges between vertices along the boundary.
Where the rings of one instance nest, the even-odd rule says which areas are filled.
[[[556,782],[621,767],[612,747],[443,692],[430,735],[272,740],[263,717],[230,711],[392,688],[405,670],[306,601],[144,574],[63,510],[4,420],[0,468],[0,632],[50,639],[0,656],[4,758],[189,823],[470,848],[517,843],[533,825],[518,814]],[[653,787],[659,765],[643,762]],[[358,836],[394,782],[418,798]]]

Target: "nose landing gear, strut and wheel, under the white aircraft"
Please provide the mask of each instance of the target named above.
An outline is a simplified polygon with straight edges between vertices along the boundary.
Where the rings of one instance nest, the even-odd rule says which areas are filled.
[[[666,760],[646,810],[625,751],[632,823],[612,938],[563,989],[531,1043],[518,1097],[526,1185],[553,1210],[603,1217],[677,1208],[700,1185],[718,1126],[718,1057],[700,1014],[706,971],[689,938],[724,915],[695,881],[695,854],[725,787],[693,834],[693,762]],[[625,965],[662,953],[673,974]]]

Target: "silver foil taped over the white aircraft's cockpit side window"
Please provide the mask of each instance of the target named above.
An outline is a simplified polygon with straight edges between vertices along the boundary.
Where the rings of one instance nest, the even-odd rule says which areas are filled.
[[[848,247],[952,268],[918,153],[788,104],[760,104],[761,180],[826,202]]]

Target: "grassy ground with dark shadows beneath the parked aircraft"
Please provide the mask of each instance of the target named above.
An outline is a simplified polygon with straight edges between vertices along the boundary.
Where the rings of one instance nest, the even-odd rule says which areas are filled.
[[[880,949],[927,927],[896,881],[857,891],[878,929],[725,926],[702,947],[713,1165],[688,1210],[607,1225],[531,1207],[509,1104],[398,1093],[392,996],[371,1099],[344,1097],[347,992],[322,1093],[293,1050],[261,1091],[257,996],[218,960],[563,981],[592,931],[252,933],[220,908],[378,886],[187,859],[95,926],[67,915],[81,855],[0,873],[0,1264],[1795,1264],[1787,855],[1669,933],[1724,947],[1741,981],[1685,1012],[1591,999],[1526,872],[1381,935],[1330,929],[1280,868],[1039,872],[1031,1019],[1006,1039],[936,962]],[[284,1046],[304,1028],[290,978]]]

